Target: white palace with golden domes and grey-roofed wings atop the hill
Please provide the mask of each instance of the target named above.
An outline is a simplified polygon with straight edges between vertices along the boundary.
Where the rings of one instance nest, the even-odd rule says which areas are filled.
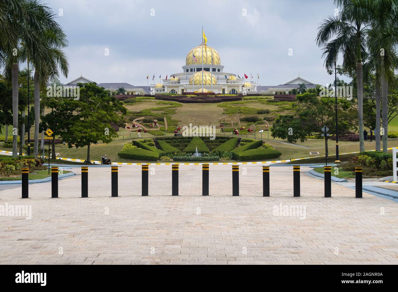
[[[203,52],[203,64],[202,64]],[[213,62],[212,62],[213,60]],[[202,70],[203,68],[203,70]],[[306,88],[314,88],[315,83],[297,76],[280,85],[260,86],[256,81],[247,81],[244,76],[224,72],[219,53],[210,46],[199,45],[190,50],[182,66],[182,72],[172,73],[162,83],[153,83],[150,86],[135,86],[129,83],[97,83],[110,92],[116,92],[123,87],[125,92],[133,95],[143,95],[154,92],[184,94],[185,92],[214,92],[222,94],[235,94],[246,91],[259,94],[287,94],[291,89],[298,88],[298,83],[304,83]],[[155,77],[156,79],[156,77]],[[203,81],[202,81],[203,80]],[[76,83],[94,82],[80,76],[66,86],[74,86]],[[203,83],[203,86],[202,86]],[[203,90],[202,90],[203,87]]]

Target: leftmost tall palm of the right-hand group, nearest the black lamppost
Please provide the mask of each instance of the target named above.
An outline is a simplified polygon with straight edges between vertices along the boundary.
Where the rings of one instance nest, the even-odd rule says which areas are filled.
[[[334,68],[338,55],[343,55],[343,65],[347,71],[356,70],[359,120],[359,151],[365,151],[363,141],[363,69],[362,58],[366,58],[366,26],[370,21],[367,9],[350,0],[335,0],[341,8],[339,15],[324,19],[318,28],[316,43],[322,47],[327,70]]]

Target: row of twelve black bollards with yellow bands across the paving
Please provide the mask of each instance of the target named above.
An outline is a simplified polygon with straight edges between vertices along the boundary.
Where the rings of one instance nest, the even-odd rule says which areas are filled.
[[[148,164],[142,166],[142,196],[148,196]],[[178,196],[178,166],[172,164],[172,196]],[[111,197],[118,197],[118,166],[111,166]],[[263,197],[270,196],[269,166],[263,166]],[[209,164],[202,164],[202,195],[209,195]],[[232,164],[232,196],[239,196],[239,165]],[[58,167],[51,166],[51,197],[58,198]],[[82,166],[82,198],[88,197],[88,166]],[[300,197],[300,166],[293,166],[293,197]],[[324,197],[332,197],[332,167],[324,166]],[[362,198],[362,166],[355,166],[355,197]],[[22,168],[22,199],[29,198],[29,168]]]

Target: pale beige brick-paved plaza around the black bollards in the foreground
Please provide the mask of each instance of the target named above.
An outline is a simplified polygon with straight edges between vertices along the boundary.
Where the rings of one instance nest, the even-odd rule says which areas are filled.
[[[271,197],[262,197],[261,164],[240,165],[240,196],[232,197],[231,165],[210,166],[202,197],[200,165],[149,167],[141,197],[141,166],[119,167],[119,196],[110,197],[110,167],[89,168],[89,196],[77,175],[0,191],[0,205],[31,206],[31,218],[0,217],[2,264],[398,264],[398,203],[332,184],[301,167],[293,197],[291,166],[271,167]],[[80,174],[80,168],[72,169]],[[25,214],[26,215],[26,214]],[[29,217],[29,216],[28,216]]]

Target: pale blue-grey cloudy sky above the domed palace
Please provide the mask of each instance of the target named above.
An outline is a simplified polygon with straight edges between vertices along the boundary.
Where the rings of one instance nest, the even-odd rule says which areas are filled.
[[[201,43],[220,54],[224,72],[260,76],[278,85],[300,76],[332,82],[316,46],[332,0],[45,0],[68,36],[70,81],[80,73],[98,83],[146,85],[146,75],[182,72],[189,50]],[[105,56],[105,50],[109,56]],[[293,56],[289,56],[289,49]]]

